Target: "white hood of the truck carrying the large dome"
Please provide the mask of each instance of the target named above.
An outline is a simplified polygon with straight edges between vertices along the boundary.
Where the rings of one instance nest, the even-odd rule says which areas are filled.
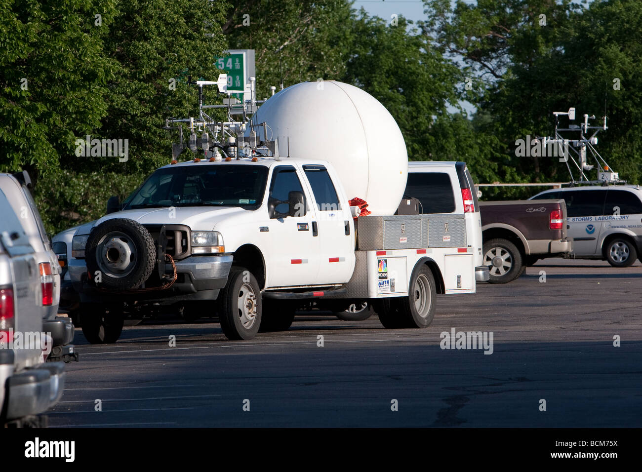
[[[141,225],[181,224],[189,226],[194,231],[211,231],[217,223],[227,220],[230,216],[245,214],[249,210],[239,207],[174,207],[171,211],[175,213],[170,214],[168,207],[117,211],[96,220],[94,225],[89,228],[83,227],[82,229],[85,229],[88,234],[93,226],[104,221],[114,218],[128,218],[141,223]],[[78,234],[81,233],[78,232]]]

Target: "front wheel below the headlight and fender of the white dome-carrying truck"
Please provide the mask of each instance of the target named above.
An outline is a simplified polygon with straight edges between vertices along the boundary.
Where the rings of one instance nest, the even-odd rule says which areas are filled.
[[[261,326],[261,290],[256,277],[243,267],[232,267],[221,292],[219,320],[228,339],[252,339]]]

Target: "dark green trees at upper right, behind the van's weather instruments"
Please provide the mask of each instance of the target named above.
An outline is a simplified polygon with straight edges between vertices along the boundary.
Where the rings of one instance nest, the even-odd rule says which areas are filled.
[[[424,28],[475,74],[476,92],[466,98],[486,117],[476,127],[476,141],[497,140],[480,155],[498,165],[496,180],[568,181],[565,164],[556,158],[516,157],[514,150],[516,139],[551,135],[553,111],[576,107],[575,123],[584,113],[598,117],[594,125],[608,116],[609,130],[599,135],[597,149],[621,178],[640,181],[642,3],[480,0],[452,8],[449,1],[433,0],[426,6],[431,21]],[[615,78],[620,90],[614,90]],[[589,177],[595,179],[596,171]]]

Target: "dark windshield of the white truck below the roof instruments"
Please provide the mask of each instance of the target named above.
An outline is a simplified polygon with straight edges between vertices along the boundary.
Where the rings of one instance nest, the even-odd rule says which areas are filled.
[[[148,207],[225,206],[254,210],[261,206],[268,168],[200,165],[155,171],[125,201],[124,210]]]

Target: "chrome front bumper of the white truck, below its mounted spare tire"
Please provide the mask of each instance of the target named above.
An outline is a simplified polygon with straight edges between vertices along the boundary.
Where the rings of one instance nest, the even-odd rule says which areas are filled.
[[[166,290],[153,290],[150,292],[123,293],[117,294],[123,299],[199,299],[199,294],[207,295],[206,299],[216,299],[221,288],[227,283],[232,267],[233,256],[222,254],[220,256],[189,256],[180,261],[175,261],[176,282]],[[171,274],[171,264],[166,263],[166,273]],[[87,266],[84,259],[72,259],[69,261],[69,275],[74,290],[80,294],[80,300],[96,301],[96,298],[104,298],[105,301],[114,298],[114,293],[98,290],[89,283],[87,277]]]

